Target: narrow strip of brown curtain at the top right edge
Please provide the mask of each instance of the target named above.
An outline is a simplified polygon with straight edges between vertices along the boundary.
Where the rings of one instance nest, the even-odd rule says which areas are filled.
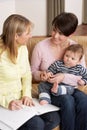
[[[82,13],[82,23],[87,24],[87,0],[83,0],[83,13]]]

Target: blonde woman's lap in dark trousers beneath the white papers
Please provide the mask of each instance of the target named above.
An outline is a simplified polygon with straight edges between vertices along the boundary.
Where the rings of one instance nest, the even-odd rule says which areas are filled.
[[[34,116],[18,130],[52,130],[60,123],[58,112],[49,112],[41,116]]]

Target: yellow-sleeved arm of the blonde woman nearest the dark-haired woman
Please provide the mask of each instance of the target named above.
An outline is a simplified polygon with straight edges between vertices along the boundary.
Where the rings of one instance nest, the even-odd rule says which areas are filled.
[[[22,82],[22,97],[28,96],[31,98],[31,88],[32,88],[32,74],[31,68],[28,60],[27,48],[22,49],[21,54],[21,82]]]

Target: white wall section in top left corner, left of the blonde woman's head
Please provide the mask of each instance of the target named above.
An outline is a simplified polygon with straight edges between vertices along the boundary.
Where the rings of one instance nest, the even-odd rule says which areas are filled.
[[[15,12],[15,0],[0,0],[0,34],[4,20]]]

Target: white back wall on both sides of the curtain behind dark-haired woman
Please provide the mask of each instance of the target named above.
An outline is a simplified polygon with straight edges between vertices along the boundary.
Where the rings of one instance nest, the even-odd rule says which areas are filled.
[[[33,35],[41,36],[47,34],[47,0],[15,0],[16,12],[31,19],[35,28]],[[78,6],[79,5],[79,6]],[[82,0],[65,0],[65,11],[73,12],[78,17],[79,24],[82,23]]]

